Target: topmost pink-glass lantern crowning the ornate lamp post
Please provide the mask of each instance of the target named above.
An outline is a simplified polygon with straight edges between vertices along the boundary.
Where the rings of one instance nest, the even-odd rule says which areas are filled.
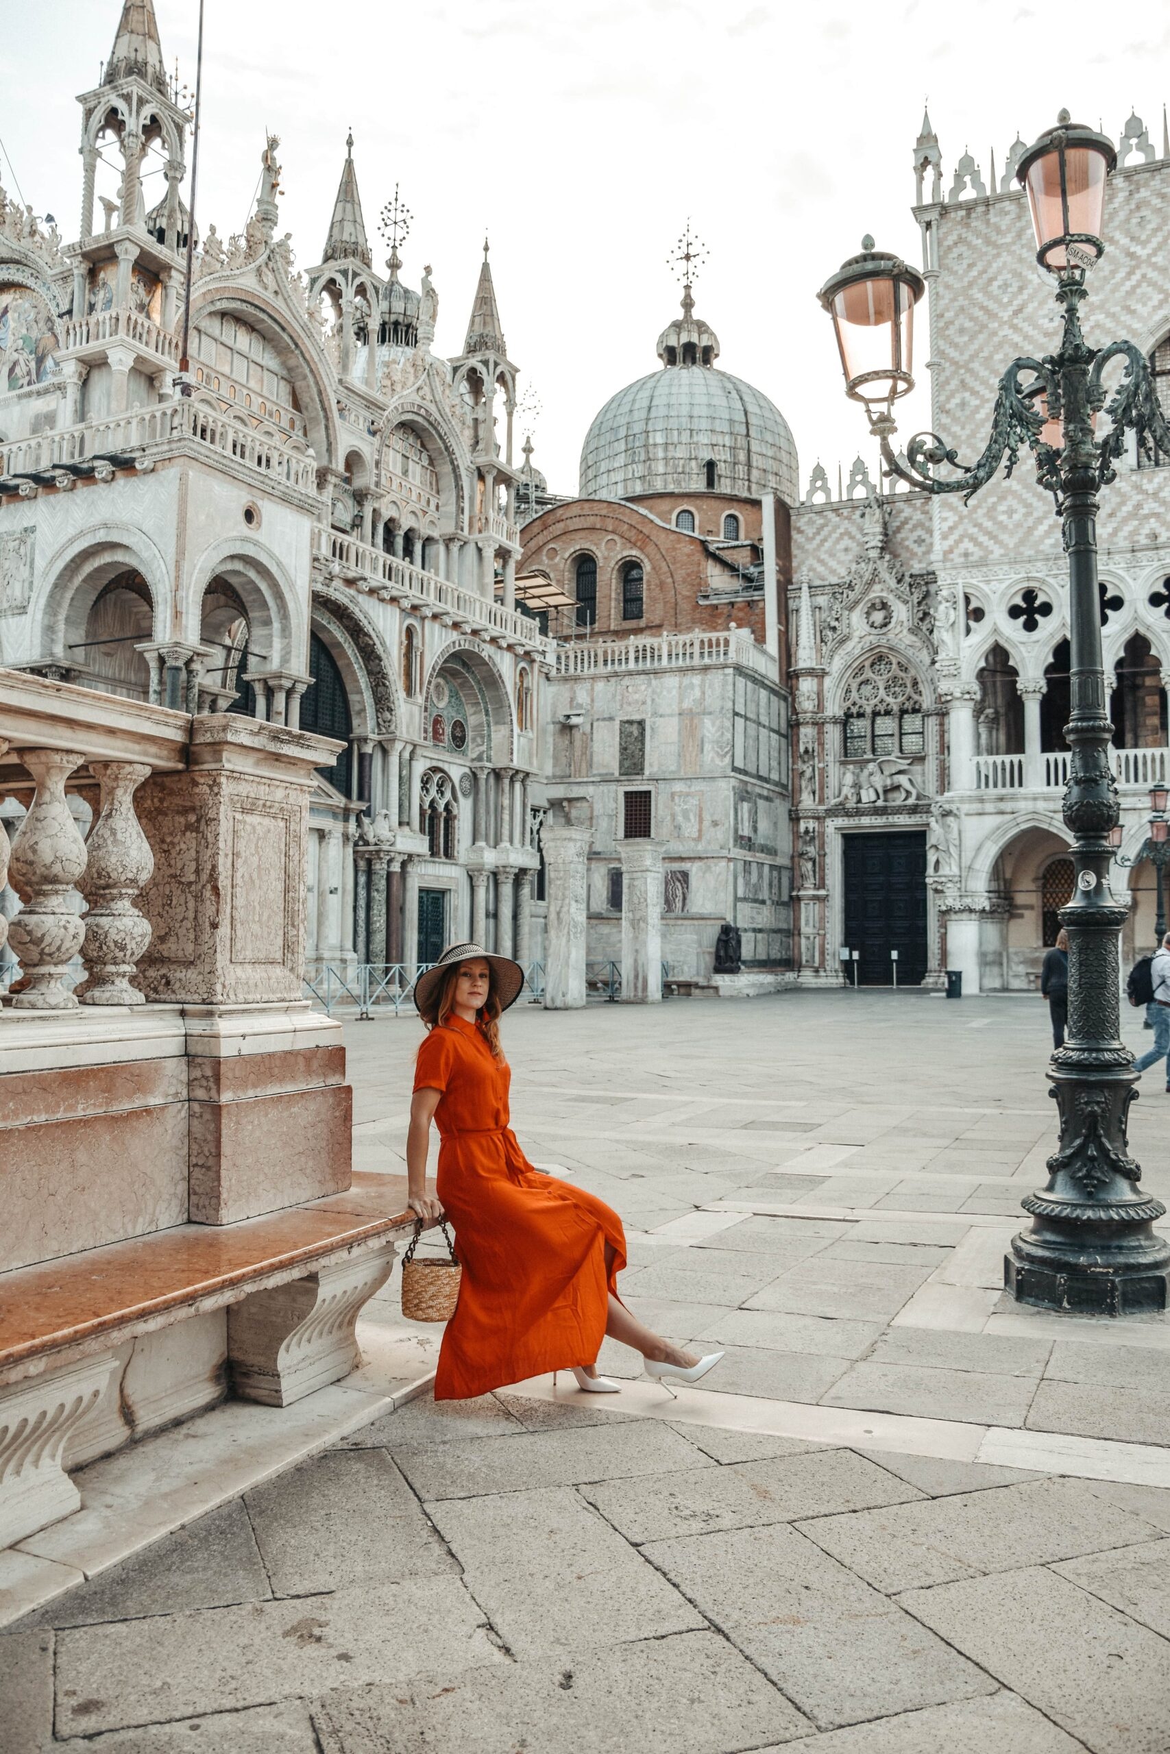
[[[1028,189],[1037,261],[1051,274],[1091,268],[1103,253],[1105,177],[1117,163],[1112,140],[1061,111],[1019,160],[1016,177]]]

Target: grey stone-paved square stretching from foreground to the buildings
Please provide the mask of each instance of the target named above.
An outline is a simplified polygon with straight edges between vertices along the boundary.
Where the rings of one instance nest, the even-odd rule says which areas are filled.
[[[419,1028],[347,1035],[358,1166],[396,1173]],[[4,1754],[1165,1754],[1170,1328],[1002,1294],[1044,1007],[517,1007],[505,1042],[523,1147],[626,1224],[630,1307],[724,1363],[677,1401],[609,1342],[603,1403],[423,1394],[98,1552],[0,1635]],[[403,1384],[439,1331],[395,1275],[360,1338]]]

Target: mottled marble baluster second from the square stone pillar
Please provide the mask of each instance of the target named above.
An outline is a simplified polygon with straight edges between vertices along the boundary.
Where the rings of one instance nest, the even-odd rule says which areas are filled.
[[[37,782],[37,795],[16,831],[9,863],[9,882],[25,903],[9,924],[9,942],[28,979],[12,1007],[68,1010],[77,1000],[61,977],[86,935],[70,893],[86,868],[86,844],[65,802],[65,781],[86,758],[74,749],[18,754]]]

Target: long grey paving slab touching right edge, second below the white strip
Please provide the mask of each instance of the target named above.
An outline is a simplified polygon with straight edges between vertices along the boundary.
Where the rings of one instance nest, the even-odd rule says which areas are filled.
[[[802,1522],[803,1533],[877,1589],[944,1584],[984,1572],[1051,1565],[1154,1540],[1140,1517],[1079,1480],[1035,1480],[888,1510]]]

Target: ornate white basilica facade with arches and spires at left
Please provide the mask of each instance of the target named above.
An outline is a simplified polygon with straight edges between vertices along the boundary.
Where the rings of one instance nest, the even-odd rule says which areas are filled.
[[[0,663],[335,737],[310,970],[467,933],[523,954],[549,642],[514,602],[517,370],[486,246],[440,358],[400,212],[374,267],[353,140],[307,272],[281,142],[258,140],[244,232],[196,216],[181,374],[189,118],[151,0],[126,0],[79,102],[77,239],[0,193]]]

